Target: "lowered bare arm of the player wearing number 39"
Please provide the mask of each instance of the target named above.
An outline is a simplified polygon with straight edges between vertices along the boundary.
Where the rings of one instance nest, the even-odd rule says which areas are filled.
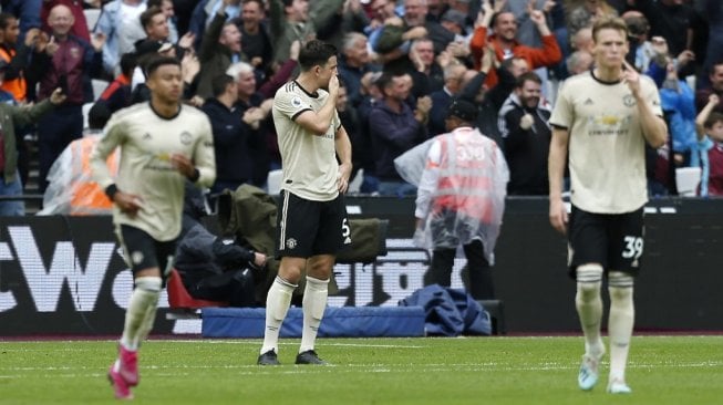
[[[552,139],[547,162],[547,172],[550,181],[550,225],[561,233],[567,231],[567,209],[562,202],[562,176],[567,162],[567,147],[569,141],[567,128],[552,127]]]

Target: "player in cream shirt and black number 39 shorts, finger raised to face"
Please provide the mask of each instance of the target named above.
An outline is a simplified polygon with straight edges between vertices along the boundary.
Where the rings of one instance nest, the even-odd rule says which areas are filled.
[[[605,274],[610,292],[608,392],[627,394],[632,292],[648,201],[644,144],[664,145],[668,128],[655,84],[624,61],[629,48],[624,21],[599,19],[592,39],[596,68],[565,82],[550,117],[549,220],[568,235],[569,274],[577,280],[575,303],[585,334],[578,385],[592,390],[606,352],[600,338]],[[569,218],[562,202],[566,166],[571,180]]]

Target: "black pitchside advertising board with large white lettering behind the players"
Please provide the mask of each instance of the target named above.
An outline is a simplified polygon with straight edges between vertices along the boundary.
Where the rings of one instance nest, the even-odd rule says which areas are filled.
[[[412,245],[414,199],[348,197],[351,217],[390,220],[389,255],[334,267],[330,307],[396,307],[424,284],[427,252]],[[636,328],[723,330],[723,199],[670,198],[645,208]],[[546,198],[509,198],[496,249],[497,299],[508,333],[577,331],[565,238]],[[453,287],[463,287],[455,261]],[[0,218],[0,336],[117,334],[132,288],[110,217]],[[606,294],[607,295],[607,294]],[[154,333],[200,333],[200,320],[165,316]]]

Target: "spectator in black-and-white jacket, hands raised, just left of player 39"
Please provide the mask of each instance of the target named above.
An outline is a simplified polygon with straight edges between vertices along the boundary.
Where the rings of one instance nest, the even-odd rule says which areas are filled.
[[[541,84],[534,72],[520,75],[515,91],[499,110],[498,125],[509,164],[507,194],[510,196],[549,194],[547,156],[552,136],[551,111],[541,98]]]

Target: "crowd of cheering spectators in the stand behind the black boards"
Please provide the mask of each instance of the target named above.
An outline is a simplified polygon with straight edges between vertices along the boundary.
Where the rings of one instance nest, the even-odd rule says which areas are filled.
[[[339,49],[345,96],[338,111],[352,141],[354,174],[363,176],[361,193],[414,195],[393,159],[443,133],[447,106],[465,98],[478,107],[477,128],[504,149],[508,193],[547,195],[549,111],[565,79],[591,68],[590,27],[603,15],[626,20],[628,60],[661,92],[671,142],[649,150],[651,195],[675,194],[674,169],[701,162],[704,181],[723,179],[723,143],[707,133],[716,131],[716,114],[723,113],[723,103],[712,97],[723,96],[719,0],[2,0],[0,6],[2,101],[39,103],[58,87],[66,96],[34,127],[17,128],[17,150],[4,143],[3,180],[17,172],[24,184],[23,139],[37,134],[41,193],[53,162],[83,136],[83,106],[102,103],[113,113],[147,101],[143,66],[157,54],[182,62],[185,100],[211,120],[214,193],[241,184],[264,187],[269,172],[280,168],[270,98],[293,79],[299,44],[316,38]],[[100,18],[87,19],[94,9]],[[109,83],[102,94],[94,94],[92,80]],[[707,184],[700,189],[704,196],[719,193]]]

